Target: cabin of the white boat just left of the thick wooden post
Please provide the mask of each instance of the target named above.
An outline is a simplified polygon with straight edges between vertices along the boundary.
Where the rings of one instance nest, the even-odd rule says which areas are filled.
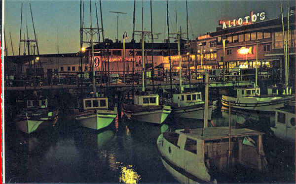
[[[177,103],[179,107],[185,107],[200,102],[202,102],[201,92],[185,92],[173,94],[173,103]]]

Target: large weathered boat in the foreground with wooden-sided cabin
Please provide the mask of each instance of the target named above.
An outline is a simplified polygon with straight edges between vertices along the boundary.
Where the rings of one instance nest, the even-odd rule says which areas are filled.
[[[262,134],[232,129],[229,143],[228,127],[179,129],[160,134],[157,149],[164,167],[178,182],[217,183],[220,175],[227,176],[237,166],[259,172],[267,169]]]

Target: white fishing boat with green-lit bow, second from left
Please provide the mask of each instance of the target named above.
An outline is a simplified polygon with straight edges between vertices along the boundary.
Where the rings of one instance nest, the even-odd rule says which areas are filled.
[[[75,113],[75,120],[81,126],[99,130],[107,127],[117,116],[117,104],[108,97],[89,97],[83,99],[82,112]]]

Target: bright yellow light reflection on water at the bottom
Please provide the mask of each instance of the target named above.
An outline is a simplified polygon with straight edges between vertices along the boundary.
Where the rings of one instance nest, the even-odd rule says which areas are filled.
[[[121,176],[119,177],[119,182],[125,184],[138,184],[141,180],[141,176],[135,172],[132,165],[121,166]]]

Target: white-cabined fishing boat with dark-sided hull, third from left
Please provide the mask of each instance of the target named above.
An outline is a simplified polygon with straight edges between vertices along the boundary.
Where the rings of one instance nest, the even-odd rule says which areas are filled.
[[[159,104],[158,94],[135,95],[134,103],[122,103],[122,111],[131,120],[161,124],[171,113],[171,107]]]

